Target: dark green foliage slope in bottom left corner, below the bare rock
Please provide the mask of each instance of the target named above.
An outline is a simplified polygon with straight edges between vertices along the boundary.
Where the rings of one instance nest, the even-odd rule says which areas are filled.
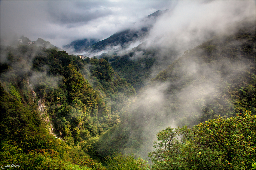
[[[37,108],[24,106],[1,85],[0,166],[12,165],[12,169],[104,169],[81,148],[70,148],[48,134]]]

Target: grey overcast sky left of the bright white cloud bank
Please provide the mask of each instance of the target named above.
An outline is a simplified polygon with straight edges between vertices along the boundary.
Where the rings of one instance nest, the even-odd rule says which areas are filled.
[[[75,39],[106,39],[176,1],[2,1],[1,34],[12,30],[62,47]]]

